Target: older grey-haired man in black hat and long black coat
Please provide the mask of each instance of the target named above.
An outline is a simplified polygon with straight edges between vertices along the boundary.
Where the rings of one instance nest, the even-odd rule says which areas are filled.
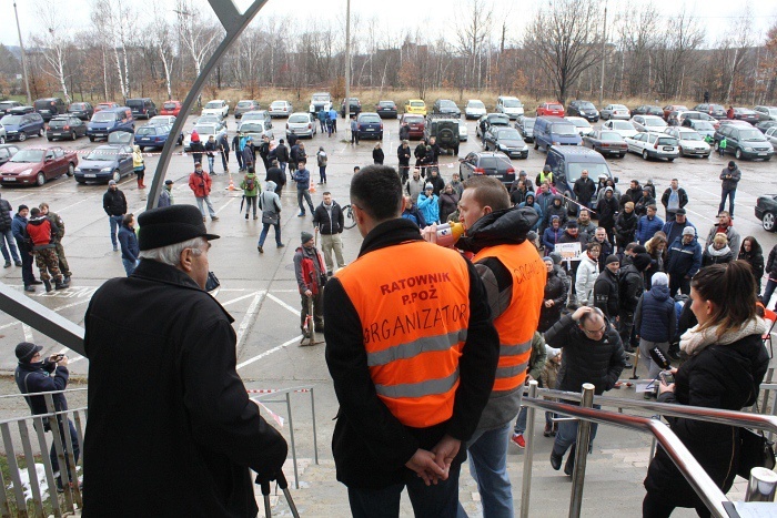
[[[235,372],[234,319],[204,291],[219,236],[193,205],[138,220],[140,265],[84,317],[83,516],[256,516],[249,468],[273,479],[286,443]]]

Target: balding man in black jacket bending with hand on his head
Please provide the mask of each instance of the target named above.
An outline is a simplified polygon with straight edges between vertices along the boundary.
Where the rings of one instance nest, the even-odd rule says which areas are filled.
[[[594,394],[602,395],[615,386],[624,369],[620,337],[598,307],[583,306],[572,315],[563,316],[545,333],[545,343],[563,348],[562,368],[556,389],[581,392],[584,383],[594,385]],[[594,407],[599,408],[598,405]],[[591,440],[596,437],[596,424],[591,426]],[[577,420],[558,424],[558,433],[551,451],[551,466],[561,469],[564,454],[573,446],[564,466],[572,475],[575,467],[574,444],[577,440]]]

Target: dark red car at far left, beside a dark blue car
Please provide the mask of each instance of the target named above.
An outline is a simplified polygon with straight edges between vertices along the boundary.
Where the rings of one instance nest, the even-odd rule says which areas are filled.
[[[62,148],[20,150],[0,167],[0,185],[43,185],[63,174],[72,176],[75,152]]]

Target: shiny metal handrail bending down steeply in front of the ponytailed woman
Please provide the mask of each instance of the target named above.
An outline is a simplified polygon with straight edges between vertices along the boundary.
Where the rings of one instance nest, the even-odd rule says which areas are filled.
[[[555,390],[554,390],[555,392]],[[579,396],[579,394],[578,394]],[[548,402],[545,399],[524,397],[523,405],[542,408],[547,412],[554,412],[568,416],[577,417],[591,423],[602,425],[614,425],[620,428],[645,431],[653,434],[658,440],[669,458],[675,463],[677,469],[683,474],[694,491],[702,498],[713,516],[725,518],[728,516],[723,506],[724,501],[728,501],[726,495],[707,475],[707,471],[696,460],[683,441],[672,431],[672,429],[658,419],[649,417],[638,417],[627,414],[619,414],[609,410],[601,410],[595,408],[585,408],[565,403]],[[731,419],[736,420],[736,419]],[[577,445],[577,448],[585,448],[586,445]]]

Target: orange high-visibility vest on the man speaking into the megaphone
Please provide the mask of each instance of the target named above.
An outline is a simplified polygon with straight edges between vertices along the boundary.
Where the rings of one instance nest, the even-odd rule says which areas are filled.
[[[513,275],[509,306],[494,319],[494,327],[500,334],[500,363],[494,392],[514,390],[526,380],[532,337],[537,331],[539,309],[545,296],[547,270],[537,250],[528,241],[519,245],[483,248],[475,254],[473,262],[486,257],[496,257]]]

